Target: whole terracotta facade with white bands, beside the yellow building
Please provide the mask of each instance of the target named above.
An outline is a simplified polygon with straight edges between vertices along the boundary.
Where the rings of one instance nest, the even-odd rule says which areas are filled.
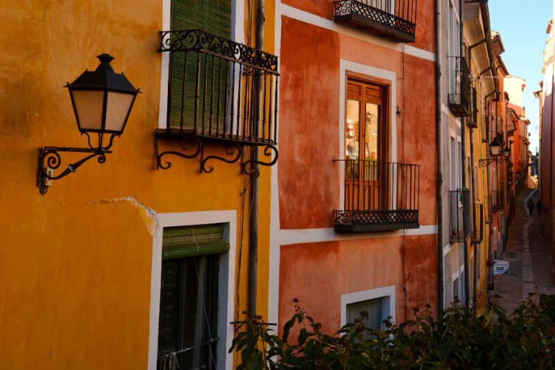
[[[294,312],[293,298],[329,333],[345,323],[349,294],[364,301],[392,289],[397,321],[411,317],[413,307],[436,308],[433,8],[434,1],[419,1],[416,42],[403,53],[399,42],[334,23],[332,1],[288,0],[280,7],[279,212],[272,214],[279,227],[272,228],[271,246],[279,278],[270,305],[280,330]],[[334,232],[334,210],[343,209],[345,196],[343,169],[334,160],[344,155],[349,77],[387,92],[387,158],[420,165],[418,229]]]

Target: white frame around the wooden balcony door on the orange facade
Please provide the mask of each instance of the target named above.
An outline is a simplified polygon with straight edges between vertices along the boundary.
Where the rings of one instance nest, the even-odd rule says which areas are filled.
[[[386,69],[363,65],[350,60],[341,59],[339,61],[339,159],[345,158],[345,101],[347,92],[345,85],[347,81],[347,72],[355,72],[364,74],[368,77],[377,77],[382,80],[389,81],[391,85],[388,87],[388,103],[389,103],[389,152],[391,162],[397,162],[397,78],[395,72]],[[345,204],[345,162],[339,163],[339,204],[338,210],[343,209]]]

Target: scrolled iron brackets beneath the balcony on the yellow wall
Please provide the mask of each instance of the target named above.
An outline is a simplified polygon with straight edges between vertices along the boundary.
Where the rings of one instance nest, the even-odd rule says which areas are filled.
[[[181,148],[184,152],[180,151],[159,151],[158,140],[159,137],[168,137],[166,132],[157,131],[154,136],[154,151],[156,158],[156,169],[169,169],[171,162],[162,160],[165,155],[177,155],[185,159],[192,159],[200,157],[200,174],[210,174],[214,171],[213,166],[208,166],[209,160],[221,160],[225,163],[241,162],[241,173],[252,175],[254,164],[262,166],[273,166],[278,161],[278,149],[272,144],[265,144],[259,142],[234,142],[232,140],[215,140],[214,137],[203,137],[200,135],[184,135],[180,137]],[[224,155],[205,155],[205,148],[208,144],[223,144]],[[248,159],[245,155],[246,147],[263,147],[263,155],[268,158],[268,161]]]

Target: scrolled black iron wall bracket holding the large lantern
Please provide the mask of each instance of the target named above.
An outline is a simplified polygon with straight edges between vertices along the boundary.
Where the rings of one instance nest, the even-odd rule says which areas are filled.
[[[110,135],[110,140],[107,146],[102,146],[102,135],[99,133],[99,145],[93,146],[91,144],[90,136],[87,133],[87,142],[89,144],[88,148],[76,148],[67,146],[44,146],[44,148],[39,149],[38,155],[38,169],[37,169],[37,187],[40,190],[40,194],[46,194],[48,188],[52,183],[52,180],[58,180],[59,178],[65,177],[76,171],[83,163],[87,162],[92,158],[96,157],[99,163],[104,163],[106,161],[106,154],[112,153],[109,149],[112,147],[112,142],[114,137],[120,134]],[[77,162],[69,163],[67,168],[62,171],[61,174],[55,175],[54,171],[60,167],[62,164],[61,153],[71,152],[71,153],[90,153],[85,158],[78,160]]]

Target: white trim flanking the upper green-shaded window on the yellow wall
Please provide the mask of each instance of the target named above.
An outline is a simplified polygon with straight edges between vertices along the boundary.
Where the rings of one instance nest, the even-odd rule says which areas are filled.
[[[171,0],[162,0],[162,31],[169,31],[171,19]],[[245,42],[245,2],[231,0],[231,40]],[[207,30],[210,31],[210,30]],[[162,52],[162,71],[160,73],[160,110],[158,128],[166,128],[168,114],[169,52]]]

